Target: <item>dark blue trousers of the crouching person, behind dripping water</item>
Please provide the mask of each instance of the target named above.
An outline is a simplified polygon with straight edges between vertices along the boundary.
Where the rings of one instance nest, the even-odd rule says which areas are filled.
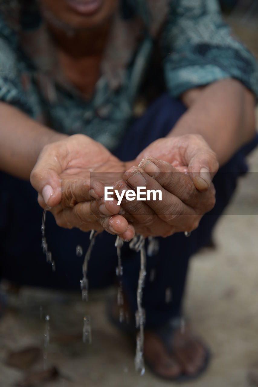
[[[152,141],[164,137],[184,111],[185,107],[179,101],[171,99],[167,94],[162,95],[142,118],[132,124],[114,154],[124,161],[135,158]],[[236,188],[237,177],[247,171],[244,156],[257,142],[256,138],[220,168],[214,178],[216,205],[209,214],[203,216],[200,226],[190,238],[185,238],[183,233],[159,238],[159,253],[147,259],[143,298],[147,325],[161,324],[180,313],[189,257],[208,243],[215,222]],[[0,173],[0,200],[0,277],[16,283],[80,291],[83,256],[77,257],[75,248],[80,244],[85,252],[89,234],[77,229],[59,228],[53,216],[47,214],[46,238],[56,262],[56,272],[52,272],[41,252],[42,209],[34,189],[28,182]],[[97,237],[89,262],[91,287],[103,287],[114,282],[117,263],[114,241],[115,236],[108,233]],[[125,243],[122,260],[123,286],[135,309],[139,254],[131,251],[128,243]],[[151,269],[155,269],[153,282],[149,281]],[[170,303],[165,303],[166,288],[172,289]]]

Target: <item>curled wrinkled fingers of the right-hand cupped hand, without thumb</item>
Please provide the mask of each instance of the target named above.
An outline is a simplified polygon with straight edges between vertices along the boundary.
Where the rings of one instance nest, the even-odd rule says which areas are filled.
[[[166,161],[145,158],[139,167],[132,167],[116,183],[115,189],[161,190],[162,200],[122,200],[124,215],[135,231],[144,236],[169,236],[179,231],[192,231],[202,216],[215,204],[215,189],[211,183],[205,192],[196,189],[190,176],[179,172]],[[150,196],[152,199],[152,195]]]

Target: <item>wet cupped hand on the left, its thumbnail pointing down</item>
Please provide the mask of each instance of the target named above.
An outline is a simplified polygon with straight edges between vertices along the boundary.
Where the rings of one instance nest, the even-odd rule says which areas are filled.
[[[82,231],[95,229],[130,240],[134,229],[118,214],[116,200],[104,202],[104,181],[92,180],[91,172],[125,171],[125,164],[104,146],[85,135],[73,135],[49,144],[39,154],[31,172],[31,184],[41,207],[51,207],[56,223]]]

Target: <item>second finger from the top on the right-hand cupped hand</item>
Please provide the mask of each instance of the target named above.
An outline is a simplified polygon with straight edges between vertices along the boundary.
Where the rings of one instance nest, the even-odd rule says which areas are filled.
[[[175,195],[165,190],[152,177],[147,175],[140,167],[132,167],[124,174],[124,179],[134,189],[137,187],[146,187],[146,190],[159,190],[162,200],[148,200],[146,204],[152,208],[157,216],[170,225],[174,225],[183,231],[184,229],[195,229],[198,226],[195,211],[184,204]],[[159,194],[158,194],[159,195]],[[180,216],[180,221],[179,221]],[[179,231],[177,229],[177,231]]]

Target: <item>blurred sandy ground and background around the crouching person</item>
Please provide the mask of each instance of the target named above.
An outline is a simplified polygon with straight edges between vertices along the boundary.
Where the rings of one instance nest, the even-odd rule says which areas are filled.
[[[258,58],[258,1],[221,0],[221,5],[226,21]],[[248,161],[250,172],[239,181],[210,247],[191,260],[186,317],[210,347],[212,361],[201,378],[185,386],[258,386],[258,149]],[[92,344],[87,345],[82,343],[85,304],[79,289],[61,293],[2,282],[0,386],[173,385],[148,370],[144,377],[135,373],[135,342],[118,332],[106,315],[112,295],[113,288],[91,291],[87,313],[92,317]],[[50,342],[44,349],[48,325]],[[33,375],[44,365],[47,375]]]

